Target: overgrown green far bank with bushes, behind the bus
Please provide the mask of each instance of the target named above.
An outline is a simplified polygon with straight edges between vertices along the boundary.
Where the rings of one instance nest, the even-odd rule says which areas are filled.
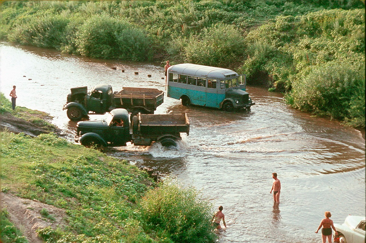
[[[0,38],[9,42],[227,67],[246,73],[249,84],[286,93],[295,108],[365,126],[362,1],[11,1],[1,7]]]

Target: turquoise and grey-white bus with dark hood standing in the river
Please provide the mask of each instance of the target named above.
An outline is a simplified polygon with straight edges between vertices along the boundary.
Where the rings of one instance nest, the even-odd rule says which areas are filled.
[[[255,103],[246,90],[246,76],[225,68],[182,63],[167,71],[167,96],[182,105],[202,105],[233,111]]]

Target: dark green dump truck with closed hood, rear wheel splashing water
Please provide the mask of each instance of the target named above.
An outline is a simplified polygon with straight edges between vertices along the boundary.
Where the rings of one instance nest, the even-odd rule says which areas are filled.
[[[137,146],[150,146],[160,142],[165,147],[176,146],[180,133],[189,135],[189,121],[186,113],[172,115],[151,115],[138,113],[128,120],[126,109],[113,109],[106,119],[79,121],[76,124],[74,140],[83,146],[126,146],[131,142]]]

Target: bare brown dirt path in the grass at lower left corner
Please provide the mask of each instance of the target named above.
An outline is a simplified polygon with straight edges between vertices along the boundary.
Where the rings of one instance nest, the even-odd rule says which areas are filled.
[[[42,243],[36,229],[48,226],[63,228],[66,225],[64,219],[67,215],[64,209],[2,192],[0,197],[1,206],[9,213],[10,221],[22,231],[30,243]],[[40,213],[42,209],[46,209],[54,220],[43,217]]]

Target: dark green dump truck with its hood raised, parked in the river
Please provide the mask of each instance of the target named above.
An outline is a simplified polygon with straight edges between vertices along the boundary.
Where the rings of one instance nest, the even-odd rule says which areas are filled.
[[[131,119],[137,113],[154,114],[156,108],[164,102],[164,92],[151,88],[122,88],[113,92],[109,84],[94,86],[90,92],[87,86],[71,88],[63,110],[67,109],[70,120],[79,121],[87,115],[105,114],[115,108],[124,108],[131,113]]]

